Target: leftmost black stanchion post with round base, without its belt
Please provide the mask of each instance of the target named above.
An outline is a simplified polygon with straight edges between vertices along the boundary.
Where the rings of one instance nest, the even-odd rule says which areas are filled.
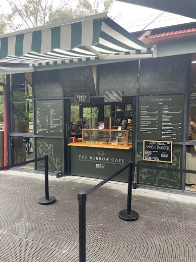
[[[45,161],[45,196],[39,198],[40,204],[52,204],[56,201],[54,196],[49,196],[49,183],[48,183],[48,155],[44,155]]]

